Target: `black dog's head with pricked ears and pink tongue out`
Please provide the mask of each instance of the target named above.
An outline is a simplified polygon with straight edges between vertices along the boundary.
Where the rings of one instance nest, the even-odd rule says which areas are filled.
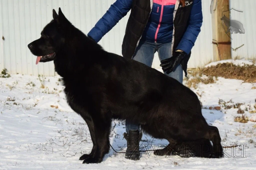
[[[38,62],[53,61],[58,57],[60,48],[65,44],[66,27],[72,25],[59,8],[59,14],[53,9],[53,20],[43,28],[41,37],[29,45],[29,50],[37,56]]]

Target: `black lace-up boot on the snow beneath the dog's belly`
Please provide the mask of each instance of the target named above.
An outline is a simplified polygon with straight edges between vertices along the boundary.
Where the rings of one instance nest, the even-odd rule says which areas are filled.
[[[129,134],[124,133],[124,138],[127,140],[126,159],[140,160],[141,137],[142,133],[139,130],[129,130]]]

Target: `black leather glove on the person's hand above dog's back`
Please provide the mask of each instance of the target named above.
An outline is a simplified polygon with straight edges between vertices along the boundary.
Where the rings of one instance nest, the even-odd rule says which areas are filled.
[[[161,61],[160,66],[162,67],[163,71],[167,74],[172,72],[178,64],[181,63],[181,60],[186,56],[186,52],[183,51],[174,51],[173,56],[171,58],[167,58]]]

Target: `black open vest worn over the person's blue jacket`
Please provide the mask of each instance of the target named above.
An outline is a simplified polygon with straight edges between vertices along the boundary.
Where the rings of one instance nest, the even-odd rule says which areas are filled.
[[[186,0],[186,4],[193,3],[193,0]],[[137,43],[140,40],[144,28],[148,23],[148,19],[151,13],[151,0],[133,0],[131,14],[129,16],[124,40],[122,43],[122,55],[126,58],[132,58],[137,47]],[[190,12],[192,5],[182,7],[179,5],[174,19],[174,41],[173,51],[180,43],[189,23]],[[190,58],[191,52],[181,62],[182,68],[187,75],[187,62]]]

